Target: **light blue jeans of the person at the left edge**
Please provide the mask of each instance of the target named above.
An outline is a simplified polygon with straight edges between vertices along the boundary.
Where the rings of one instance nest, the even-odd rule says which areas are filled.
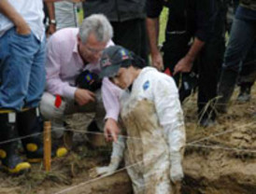
[[[12,28],[0,37],[0,109],[36,107],[45,88],[45,40],[18,35]]]

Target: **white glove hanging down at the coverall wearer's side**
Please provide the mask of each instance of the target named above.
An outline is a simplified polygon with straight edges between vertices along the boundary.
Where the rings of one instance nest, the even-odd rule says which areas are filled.
[[[184,173],[181,166],[181,154],[179,152],[172,152],[171,157],[171,170],[170,177],[171,181],[176,184],[182,180]]]

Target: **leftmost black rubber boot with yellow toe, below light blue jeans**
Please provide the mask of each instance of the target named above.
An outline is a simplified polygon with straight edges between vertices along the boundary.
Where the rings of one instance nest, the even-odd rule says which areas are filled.
[[[26,173],[31,169],[30,163],[19,156],[18,137],[16,113],[0,114],[0,159],[3,169],[10,174]]]

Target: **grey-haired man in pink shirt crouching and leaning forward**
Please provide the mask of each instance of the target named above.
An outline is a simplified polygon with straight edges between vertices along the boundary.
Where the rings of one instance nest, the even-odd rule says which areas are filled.
[[[103,96],[107,107],[107,123],[116,123],[119,115],[117,87],[105,78],[101,95],[100,90],[92,92],[75,85],[76,78],[85,70],[96,75],[100,73],[98,61],[103,49],[113,45],[112,36],[112,27],[107,18],[94,14],[85,19],[79,29],[65,28],[50,37],[46,63],[47,84],[40,103],[44,118],[64,122],[66,116],[74,113],[95,113],[94,120],[103,129]]]

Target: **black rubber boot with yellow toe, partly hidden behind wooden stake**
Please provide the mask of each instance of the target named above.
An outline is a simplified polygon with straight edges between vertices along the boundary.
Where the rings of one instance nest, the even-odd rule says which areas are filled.
[[[43,120],[39,116],[38,108],[22,111],[17,115],[17,124],[21,136],[22,146],[29,162],[40,162],[44,157]],[[67,150],[64,147],[52,146],[51,157],[63,157]]]

